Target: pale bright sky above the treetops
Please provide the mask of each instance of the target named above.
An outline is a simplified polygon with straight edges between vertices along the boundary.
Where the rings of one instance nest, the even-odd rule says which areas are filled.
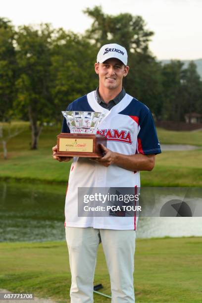
[[[155,33],[150,50],[157,59],[202,58],[202,0],[1,0],[0,17],[84,33],[92,19],[83,10],[95,5],[106,14],[141,15]]]

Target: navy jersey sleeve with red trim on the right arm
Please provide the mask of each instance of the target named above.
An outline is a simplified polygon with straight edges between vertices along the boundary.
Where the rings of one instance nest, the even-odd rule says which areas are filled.
[[[161,153],[152,113],[149,110],[139,125],[137,152],[142,154]]]

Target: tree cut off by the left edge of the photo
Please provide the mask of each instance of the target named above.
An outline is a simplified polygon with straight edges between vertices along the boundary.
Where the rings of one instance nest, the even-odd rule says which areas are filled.
[[[18,129],[10,127],[10,121],[15,117],[13,102],[16,97],[14,35],[11,21],[0,18],[0,142],[4,159],[7,158],[7,141],[19,133]]]

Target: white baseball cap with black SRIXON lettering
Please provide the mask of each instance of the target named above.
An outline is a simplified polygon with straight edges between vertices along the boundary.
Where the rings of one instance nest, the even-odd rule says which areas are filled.
[[[115,43],[105,44],[101,47],[98,52],[97,62],[102,63],[110,58],[117,58],[123,62],[124,65],[127,65],[128,62],[128,54],[126,49]]]

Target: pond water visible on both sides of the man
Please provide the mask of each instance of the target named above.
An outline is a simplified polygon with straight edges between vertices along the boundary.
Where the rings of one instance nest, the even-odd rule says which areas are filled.
[[[65,186],[0,182],[0,242],[65,240]],[[202,236],[202,217],[141,217],[138,238]]]

